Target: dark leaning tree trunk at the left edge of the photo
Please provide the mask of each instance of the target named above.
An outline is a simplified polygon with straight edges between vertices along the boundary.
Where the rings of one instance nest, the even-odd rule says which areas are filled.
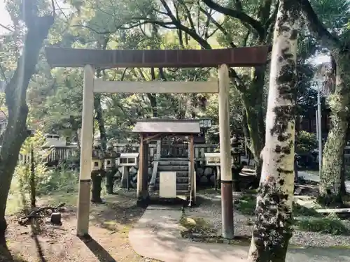
[[[32,13],[29,10],[29,13]],[[29,18],[28,18],[29,20]],[[30,16],[27,23],[27,35],[22,55],[18,59],[17,68],[10,82],[6,85],[6,106],[8,108],[8,124],[3,133],[3,143],[0,151],[0,245],[6,247],[5,219],[6,203],[13,172],[18,160],[18,154],[23,142],[29,135],[27,131],[28,107],[26,103],[27,87],[31,75],[35,72],[38,54],[48,30],[54,22],[54,17]]]

